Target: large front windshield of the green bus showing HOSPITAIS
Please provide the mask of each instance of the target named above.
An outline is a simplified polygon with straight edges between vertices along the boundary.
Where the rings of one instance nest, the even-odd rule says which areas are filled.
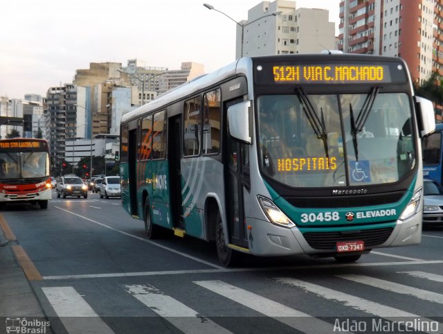
[[[407,94],[262,95],[257,111],[262,173],[287,186],[386,184],[415,167]]]

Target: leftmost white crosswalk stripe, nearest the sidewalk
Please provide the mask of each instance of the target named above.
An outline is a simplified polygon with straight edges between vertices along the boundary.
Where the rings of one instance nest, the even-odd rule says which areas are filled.
[[[73,287],[42,290],[68,333],[114,333]]]

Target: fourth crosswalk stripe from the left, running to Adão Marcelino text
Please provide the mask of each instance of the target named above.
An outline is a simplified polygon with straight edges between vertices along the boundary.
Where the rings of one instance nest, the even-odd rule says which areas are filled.
[[[420,317],[419,315],[415,315],[413,313],[408,313],[406,311],[399,310],[397,308],[392,308],[390,306],[379,304],[374,301],[369,301],[367,299],[363,299],[353,295],[348,295],[345,292],[332,290],[329,288],[325,288],[321,285],[309,283],[306,281],[301,281],[299,279],[282,277],[275,279],[275,281],[287,285],[296,286],[297,288],[302,288],[305,291],[312,292],[314,293],[314,295],[323,297],[325,299],[333,301],[341,301],[345,306],[350,306],[352,308],[355,308],[356,310],[362,310],[363,312],[370,313],[371,315],[381,317],[383,319],[392,320],[393,322],[397,322],[399,318],[420,318],[422,323],[433,322],[433,320],[431,319],[426,319],[424,317]],[[439,327],[440,329],[443,328],[442,324],[439,324]],[[415,329],[422,330],[422,328],[415,328]]]

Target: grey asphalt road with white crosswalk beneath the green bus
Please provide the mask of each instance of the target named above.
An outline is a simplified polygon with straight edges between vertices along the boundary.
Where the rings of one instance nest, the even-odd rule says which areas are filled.
[[[195,238],[147,240],[120,199],[57,199],[3,217],[42,279],[54,333],[443,333],[443,227],[357,263],[248,258]],[[402,329],[403,328],[403,329]]]

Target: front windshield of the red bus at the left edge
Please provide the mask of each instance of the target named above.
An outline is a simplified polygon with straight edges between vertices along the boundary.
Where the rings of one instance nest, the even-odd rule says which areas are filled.
[[[0,152],[0,179],[30,179],[48,175],[48,152]]]

